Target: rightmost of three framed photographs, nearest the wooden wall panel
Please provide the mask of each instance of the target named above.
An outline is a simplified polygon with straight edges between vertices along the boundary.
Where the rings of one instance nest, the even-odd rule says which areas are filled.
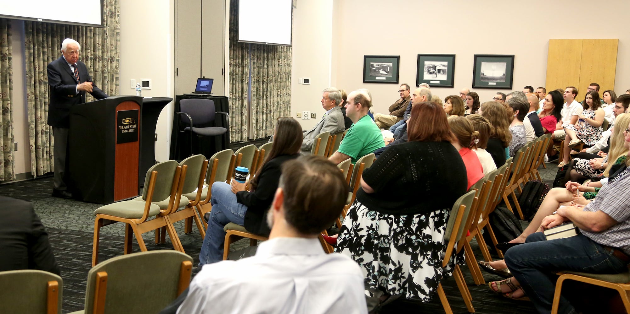
[[[473,89],[512,89],[514,55],[474,55]]]

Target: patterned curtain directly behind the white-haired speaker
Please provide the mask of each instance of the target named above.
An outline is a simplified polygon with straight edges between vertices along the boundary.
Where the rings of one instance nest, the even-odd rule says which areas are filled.
[[[48,126],[48,63],[61,57],[61,43],[72,38],[81,45],[79,60],[86,64],[93,82],[108,95],[117,95],[120,85],[118,0],[103,0],[103,28],[53,23],[25,22],[26,104],[31,148],[31,174],[53,171],[52,127]],[[88,94],[86,101],[95,100]]]

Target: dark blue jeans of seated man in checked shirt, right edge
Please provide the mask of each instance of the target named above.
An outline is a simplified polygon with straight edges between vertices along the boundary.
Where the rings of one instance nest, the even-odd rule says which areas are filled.
[[[538,313],[551,313],[556,290],[556,271],[616,274],[627,270],[627,264],[583,234],[546,241],[542,232],[530,234],[525,244],[505,252],[507,264],[518,283],[529,296]],[[576,313],[573,306],[560,298],[558,313]]]

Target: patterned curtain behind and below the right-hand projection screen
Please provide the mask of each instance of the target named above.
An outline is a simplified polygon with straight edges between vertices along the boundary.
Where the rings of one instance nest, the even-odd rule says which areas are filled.
[[[271,136],[277,118],[290,116],[291,47],[239,43],[236,0],[230,1],[229,65],[230,140],[248,139],[248,96],[254,138]]]

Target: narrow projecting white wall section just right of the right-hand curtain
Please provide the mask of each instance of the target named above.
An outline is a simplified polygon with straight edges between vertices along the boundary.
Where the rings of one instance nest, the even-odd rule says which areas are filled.
[[[331,85],[333,0],[299,0],[293,9],[291,116],[311,111],[316,119],[302,120],[311,129],[326,111],[321,107],[322,90]],[[298,84],[311,78],[311,85]]]

